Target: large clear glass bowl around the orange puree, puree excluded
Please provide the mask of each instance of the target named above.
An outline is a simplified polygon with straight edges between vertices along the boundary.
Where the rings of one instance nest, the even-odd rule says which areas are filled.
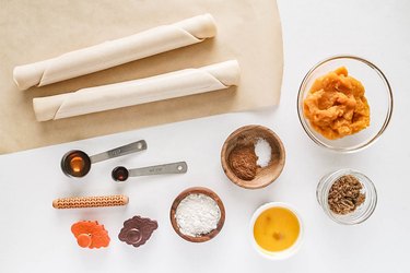
[[[303,114],[303,102],[319,76],[337,68],[345,67],[349,75],[362,82],[371,110],[370,126],[352,135],[328,140],[318,133]],[[317,63],[302,81],[297,95],[297,114],[307,135],[319,146],[332,151],[350,153],[363,150],[374,143],[386,130],[393,111],[393,93],[386,76],[372,62],[354,56],[336,56]]]

